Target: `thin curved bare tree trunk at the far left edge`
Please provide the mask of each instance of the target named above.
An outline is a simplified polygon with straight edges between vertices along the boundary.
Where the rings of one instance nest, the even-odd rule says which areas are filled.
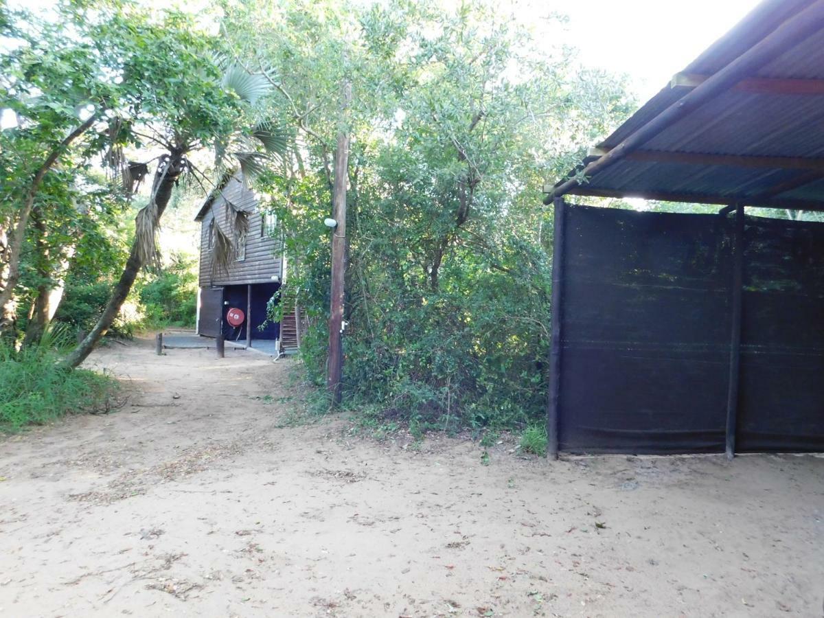
[[[14,289],[20,281],[20,259],[23,253],[23,246],[26,242],[26,226],[29,223],[31,208],[34,207],[35,197],[37,197],[37,192],[40,190],[43,178],[46,172],[51,169],[51,166],[54,165],[54,162],[58,160],[58,157],[66,151],[74,140],[79,138],[83,133],[86,133],[87,129],[89,129],[92,124],[95,124],[96,119],[96,115],[92,115],[86,122],[77,127],[77,129],[74,129],[72,133],[69,133],[66,138],[49,153],[43,165],[35,172],[34,179],[31,180],[31,186],[23,202],[23,208],[17,217],[17,223],[12,232],[12,237],[9,239],[8,246],[4,251],[8,272],[6,285],[2,288],[2,291],[0,291],[0,335],[7,335],[9,331],[14,328],[16,322],[17,309],[14,301]]]

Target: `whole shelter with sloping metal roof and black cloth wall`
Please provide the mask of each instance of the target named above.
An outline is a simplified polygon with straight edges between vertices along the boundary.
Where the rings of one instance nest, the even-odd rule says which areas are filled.
[[[762,2],[546,192],[550,453],[824,451],[824,224],[745,211],[824,211],[824,0]]]

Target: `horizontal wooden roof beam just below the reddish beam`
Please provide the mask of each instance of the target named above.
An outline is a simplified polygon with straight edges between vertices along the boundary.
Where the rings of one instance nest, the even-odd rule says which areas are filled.
[[[590,148],[588,157],[604,157],[610,150]],[[772,170],[811,170],[824,173],[824,158],[819,157],[754,157],[750,155],[705,154],[702,152],[668,152],[636,150],[624,157],[627,161],[648,163],[681,163],[695,166],[758,167]]]

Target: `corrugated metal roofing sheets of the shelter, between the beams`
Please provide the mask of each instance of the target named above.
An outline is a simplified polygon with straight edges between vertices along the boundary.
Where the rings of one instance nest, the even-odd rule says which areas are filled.
[[[779,28],[784,21],[814,4],[814,0],[767,0],[713,44],[682,73],[711,76]],[[798,20],[796,20],[798,21]],[[775,58],[747,77],[824,80],[824,30],[806,40],[788,44]],[[615,133],[598,144],[617,147],[650,120],[677,103],[690,87],[667,86],[627,119]],[[588,182],[569,190],[579,194],[685,194],[713,199],[719,204],[803,199],[824,204],[824,182],[816,180],[822,164],[824,178],[824,94],[787,94],[728,90],[706,101],[643,144],[647,158],[627,158],[597,171]],[[663,155],[662,155],[663,153]],[[780,166],[755,166],[761,162],[717,160],[672,162],[666,153],[727,155],[735,157],[803,157],[804,162]],[[650,161],[650,157],[667,162]],[[693,157],[695,159],[695,157]],[[815,159],[819,161],[808,162]],[[593,159],[588,159],[591,162]],[[775,163],[775,162],[774,162]],[[789,169],[792,167],[794,169]],[[791,187],[802,179],[808,184]],[[565,180],[565,179],[564,179]],[[559,185],[563,180],[559,182]],[[557,185],[556,185],[557,186]],[[785,190],[776,192],[777,190]],[[722,201],[723,199],[723,201]]]

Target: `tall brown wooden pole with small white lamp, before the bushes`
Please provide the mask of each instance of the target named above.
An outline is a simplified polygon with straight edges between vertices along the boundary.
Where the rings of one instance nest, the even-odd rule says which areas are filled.
[[[329,363],[326,386],[332,394],[332,405],[340,403],[341,380],[344,372],[344,271],[346,269],[346,185],[349,180],[349,129],[347,110],[352,101],[352,84],[345,80],[340,93],[340,129],[335,149],[335,184],[332,189],[332,285],[329,316]]]

